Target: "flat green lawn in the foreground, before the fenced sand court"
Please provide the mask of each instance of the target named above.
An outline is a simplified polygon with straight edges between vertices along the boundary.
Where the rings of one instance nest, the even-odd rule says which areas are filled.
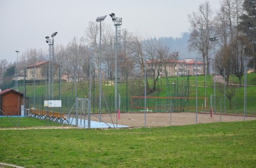
[[[32,119],[19,118],[20,123]],[[45,122],[33,121],[37,124]],[[3,128],[1,124],[0,162],[25,167],[256,165],[256,121],[110,130]]]

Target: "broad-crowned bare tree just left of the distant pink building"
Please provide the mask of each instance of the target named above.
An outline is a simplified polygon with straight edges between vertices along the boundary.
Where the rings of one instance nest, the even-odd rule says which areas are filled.
[[[162,41],[157,41],[156,38],[142,41],[138,36],[134,36],[131,43],[131,55],[134,69],[139,69],[138,76],[143,77],[147,73],[147,92],[154,92],[157,80],[164,71],[164,62],[170,55],[169,47]],[[145,63],[147,67],[145,67]],[[148,84],[149,78],[153,81],[152,88]]]

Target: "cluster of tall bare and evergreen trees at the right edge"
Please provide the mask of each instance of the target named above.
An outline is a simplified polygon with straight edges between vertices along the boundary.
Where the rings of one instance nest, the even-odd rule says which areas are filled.
[[[189,49],[202,55],[205,73],[210,72],[211,59],[214,60],[216,73],[223,76],[227,83],[234,75],[241,85],[244,71],[248,68],[255,71],[255,16],[255,0],[222,0],[216,12],[206,1],[198,6],[198,11],[188,15]]]

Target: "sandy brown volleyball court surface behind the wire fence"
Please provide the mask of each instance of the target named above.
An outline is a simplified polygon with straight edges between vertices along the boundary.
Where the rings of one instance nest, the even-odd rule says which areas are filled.
[[[116,114],[102,115],[102,122],[116,124]],[[112,120],[111,120],[112,118]],[[147,127],[160,127],[170,125],[189,125],[196,123],[196,113],[121,113],[120,120],[117,123],[129,127],[144,127],[146,118]],[[92,120],[99,121],[99,115],[93,116]],[[256,120],[256,116],[246,116],[246,121]],[[212,123],[212,122],[238,122],[244,121],[242,115],[220,115],[216,114],[211,117],[210,114],[198,113],[197,123]]]

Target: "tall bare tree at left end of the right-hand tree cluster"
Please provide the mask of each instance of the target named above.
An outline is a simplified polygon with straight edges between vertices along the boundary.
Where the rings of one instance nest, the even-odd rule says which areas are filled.
[[[190,22],[190,37],[189,37],[189,50],[196,50],[202,54],[202,58],[206,63],[204,66],[204,72],[207,74],[209,71],[209,51],[212,48],[212,43],[209,43],[209,38],[212,36],[213,19],[212,10],[209,2],[200,4],[198,11],[188,15]]]

